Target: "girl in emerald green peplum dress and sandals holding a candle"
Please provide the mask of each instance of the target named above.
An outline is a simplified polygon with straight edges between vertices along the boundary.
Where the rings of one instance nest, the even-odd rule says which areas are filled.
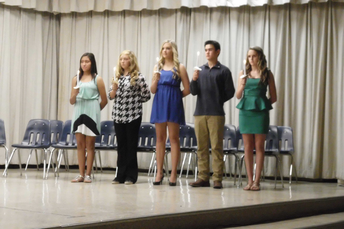
[[[275,79],[267,68],[267,61],[260,47],[251,47],[247,52],[246,72],[239,72],[236,96],[241,99],[239,128],[243,135],[245,165],[248,183],[244,190],[260,190],[260,174],[264,164],[265,139],[269,131],[269,110],[277,101]],[[270,98],[266,96],[269,87]],[[256,177],[253,180],[253,150],[256,148]]]

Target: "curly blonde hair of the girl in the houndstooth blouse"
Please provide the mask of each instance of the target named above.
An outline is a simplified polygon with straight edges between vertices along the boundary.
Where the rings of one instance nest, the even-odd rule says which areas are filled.
[[[124,69],[121,67],[120,58],[122,55],[128,55],[130,59],[130,66],[129,66],[129,74],[130,74],[130,84],[135,85],[137,79],[139,78],[139,66],[137,63],[137,58],[133,51],[130,50],[124,50],[119,55],[118,61],[117,61],[117,67],[116,67],[116,81],[123,75]]]

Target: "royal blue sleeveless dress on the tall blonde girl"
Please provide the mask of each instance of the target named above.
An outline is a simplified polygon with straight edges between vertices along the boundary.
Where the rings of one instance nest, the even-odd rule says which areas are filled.
[[[180,82],[180,78],[173,79],[172,71],[161,70],[157,92],[153,99],[150,123],[172,122],[185,125]]]

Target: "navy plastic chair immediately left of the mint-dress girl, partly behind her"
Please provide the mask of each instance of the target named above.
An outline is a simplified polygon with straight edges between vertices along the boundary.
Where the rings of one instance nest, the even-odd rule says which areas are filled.
[[[72,120],[67,120],[64,123],[62,134],[60,135],[60,141],[58,143],[54,143],[51,145],[54,149],[50,153],[49,157],[49,163],[51,162],[53,153],[58,150],[57,154],[57,161],[56,161],[56,169],[57,176],[59,176],[59,170],[61,165],[61,159],[62,156],[64,158],[64,162],[66,165],[66,170],[69,170],[69,163],[68,163],[68,157],[67,157],[67,150],[76,150],[76,138],[74,133],[71,133],[71,126],[72,126]],[[47,169],[47,175],[49,173],[49,168]]]

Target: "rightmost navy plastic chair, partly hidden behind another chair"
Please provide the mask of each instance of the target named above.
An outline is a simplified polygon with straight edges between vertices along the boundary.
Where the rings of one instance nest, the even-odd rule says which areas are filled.
[[[298,182],[298,174],[296,172],[295,162],[293,158],[294,153],[294,140],[293,129],[288,126],[278,126],[278,140],[280,141],[280,154],[290,156],[290,170],[289,170],[289,184],[291,184],[292,169],[294,167],[295,180]]]

